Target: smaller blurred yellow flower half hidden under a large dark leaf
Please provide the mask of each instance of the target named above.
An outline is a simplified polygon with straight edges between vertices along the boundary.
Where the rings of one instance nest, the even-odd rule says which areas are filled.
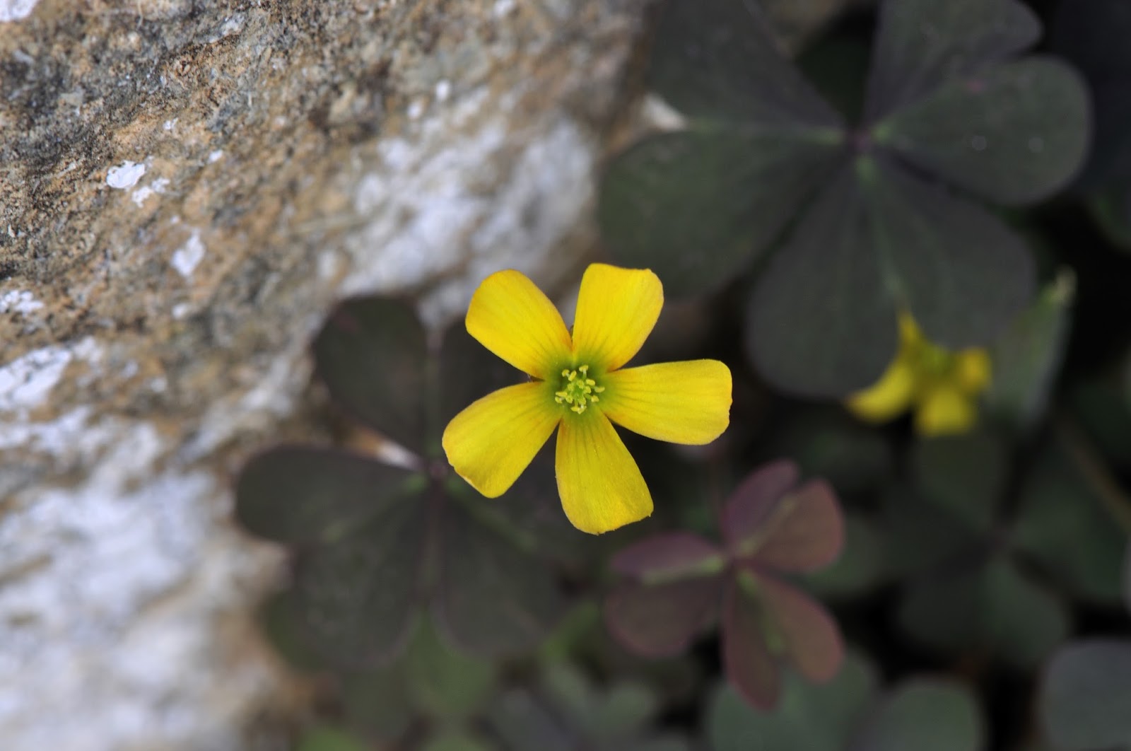
[[[977,422],[978,394],[990,385],[985,349],[948,352],[927,342],[910,316],[899,314],[899,352],[880,380],[848,397],[862,420],[887,422],[915,409],[923,435],[965,433]]]

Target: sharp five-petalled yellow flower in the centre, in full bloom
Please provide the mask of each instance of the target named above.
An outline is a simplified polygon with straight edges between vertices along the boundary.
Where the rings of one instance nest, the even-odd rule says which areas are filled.
[[[489,394],[448,423],[443,450],[459,476],[487,498],[502,495],[556,428],[558,493],[575,527],[601,534],[649,516],[648,486],[612,423],[702,444],[731,418],[731,371],[717,360],[621,370],[663,304],[650,270],[593,264],[571,336],[524,275],[484,279],[467,309],[467,331],[533,380]]]

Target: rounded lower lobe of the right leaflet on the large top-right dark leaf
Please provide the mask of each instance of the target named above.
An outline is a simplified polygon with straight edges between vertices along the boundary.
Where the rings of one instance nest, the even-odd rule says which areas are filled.
[[[875,127],[878,143],[1001,204],[1029,204],[1068,184],[1088,150],[1083,81],[1063,62],[1030,58],[952,80]]]

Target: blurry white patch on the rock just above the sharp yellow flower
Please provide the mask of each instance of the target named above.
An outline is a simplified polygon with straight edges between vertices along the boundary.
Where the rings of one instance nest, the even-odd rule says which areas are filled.
[[[592,137],[550,114],[509,132],[507,107],[486,107],[485,96],[454,97],[416,138],[380,144],[383,169],[354,193],[370,221],[347,242],[354,266],[343,294],[404,288],[459,266],[459,280],[422,303],[428,320],[443,320],[480,279],[500,268],[544,268],[562,238],[584,226],[599,158]],[[483,191],[485,182],[494,188]]]

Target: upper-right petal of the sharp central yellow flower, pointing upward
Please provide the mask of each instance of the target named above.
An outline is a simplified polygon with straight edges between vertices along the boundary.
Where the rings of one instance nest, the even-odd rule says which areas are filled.
[[[664,287],[650,270],[590,264],[573,318],[578,362],[620,368],[644,346],[663,307]]]

